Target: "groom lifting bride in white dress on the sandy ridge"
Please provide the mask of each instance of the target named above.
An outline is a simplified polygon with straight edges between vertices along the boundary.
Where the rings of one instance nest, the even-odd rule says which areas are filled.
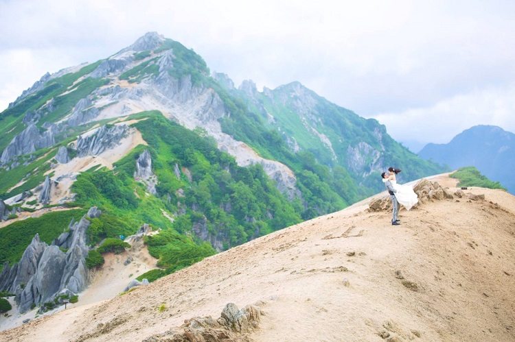
[[[391,204],[393,204],[393,212],[391,218],[392,225],[400,225],[398,219],[399,204],[402,204],[407,210],[417,204],[418,197],[409,185],[397,184],[396,175],[399,169],[390,167],[387,172],[381,173],[382,182],[385,183],[388,193],[390,194]]]

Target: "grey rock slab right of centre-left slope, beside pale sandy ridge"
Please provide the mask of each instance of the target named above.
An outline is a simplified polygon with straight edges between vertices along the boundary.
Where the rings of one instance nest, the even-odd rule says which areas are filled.
[[[83,134],[77,139],[77,155],[98,156],[119,143],[128,132],[127,125],[103,125],[92,134]]]

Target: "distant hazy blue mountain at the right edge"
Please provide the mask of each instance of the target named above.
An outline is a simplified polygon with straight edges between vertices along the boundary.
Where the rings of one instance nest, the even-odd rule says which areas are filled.
[[[450,143],[426,145],[418,155],[452,169],[474,166],[515,193],[515,134],[501,127],[470,127]]]

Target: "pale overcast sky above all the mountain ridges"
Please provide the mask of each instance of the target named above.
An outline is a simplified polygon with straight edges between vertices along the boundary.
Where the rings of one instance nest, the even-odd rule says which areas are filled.
[[[299,81],[415,151],[472,125],[515,132],[515,1],[0,0],[0,110],[150,31],[236,84]]]

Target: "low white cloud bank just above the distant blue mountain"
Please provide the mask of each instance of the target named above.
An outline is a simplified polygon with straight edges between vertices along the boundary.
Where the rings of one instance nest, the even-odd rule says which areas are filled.
[[[515,84],[474,90],[433,106],[373,116],[398,141],[448,143],[474,125],[497,125],[515,132]]]

